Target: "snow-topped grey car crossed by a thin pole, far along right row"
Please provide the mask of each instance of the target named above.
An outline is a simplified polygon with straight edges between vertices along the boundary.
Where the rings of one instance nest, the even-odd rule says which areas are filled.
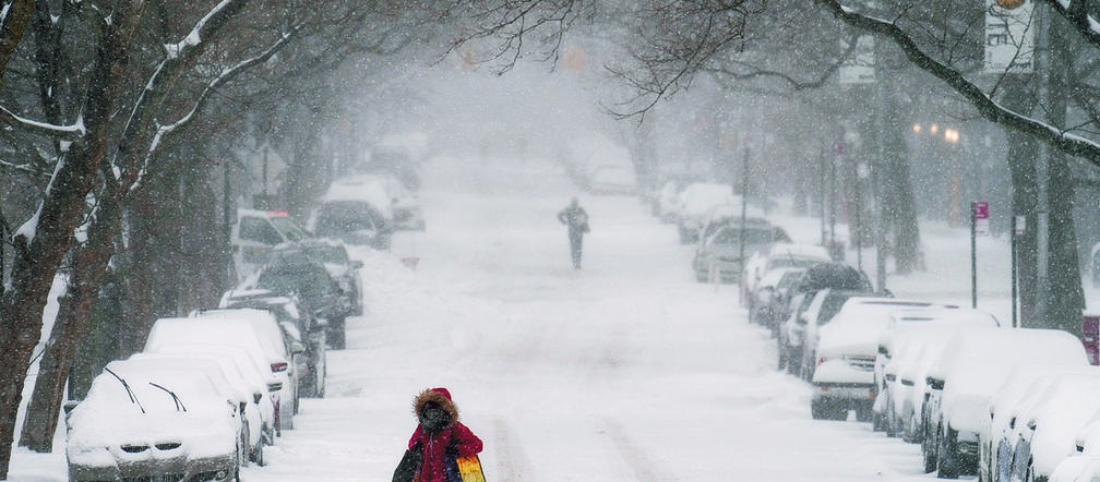
[[[776,231],[771,223],[762,219],[748,219],[745,223],[724,224],[711,234],[695,250],[692,270],[695,281],[737,282],[744,270],[745,260],[774,242]]]

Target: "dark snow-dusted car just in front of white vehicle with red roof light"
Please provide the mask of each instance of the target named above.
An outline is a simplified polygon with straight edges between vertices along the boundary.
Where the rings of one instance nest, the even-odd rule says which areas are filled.
[[[340,282],[323,263],[304,251],[276,251],[245,288],[296,295],[312,316],[328,322],[329,348],[344,348],[344,317],[351,306],[346,304]]]

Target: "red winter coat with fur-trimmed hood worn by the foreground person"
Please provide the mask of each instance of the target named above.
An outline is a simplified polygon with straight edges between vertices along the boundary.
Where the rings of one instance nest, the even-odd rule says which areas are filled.
[[[417,426],[409,439],[409,448],[419,445],[424,457],[420,465],[418,482],[447,482],[447,448],[454,446],[459,450],[459,457],[470,457],[482,451],[482,441],[474,432],[470,431],[465,425],[459,423],[459,409],[451,401],[451,394],[447,388],[432,388],[422,392],[416,398],[415,410],[417,414],[428,402],[436,402],[440,407],[451,415],[451,423],[447,427],[436,432],[427,432],[422,427]]]

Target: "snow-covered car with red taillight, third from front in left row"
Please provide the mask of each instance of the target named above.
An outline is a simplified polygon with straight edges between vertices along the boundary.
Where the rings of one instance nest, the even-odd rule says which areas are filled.
[[[194,350],[201,346],[229,346],[232,350],[248,355],[255,366],[267,376],[267,387],[274,393],[275,431],[292,428],[294,424],[294,393],[297,386],[287,386],[290,375],[286,373],[290,362],[270,354],[263,337],[248,321],[226,322],[202,318],[161,318],[153,324],[145,350],[151,353]],[[266,368],[266,370],[265,370]]]

